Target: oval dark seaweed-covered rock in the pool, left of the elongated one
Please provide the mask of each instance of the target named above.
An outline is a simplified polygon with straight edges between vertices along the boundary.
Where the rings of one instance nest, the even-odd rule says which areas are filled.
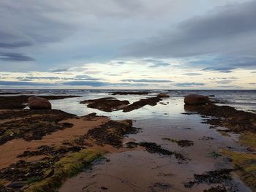
[[[122,110],[124,107],[127,107],[129,101],[120,101],[114,97],[105,97],[100,99],[80,101],[80,104],[88,104],[87,107],[89,108],[94,108],[105,112],[113,112],[116,110]]]

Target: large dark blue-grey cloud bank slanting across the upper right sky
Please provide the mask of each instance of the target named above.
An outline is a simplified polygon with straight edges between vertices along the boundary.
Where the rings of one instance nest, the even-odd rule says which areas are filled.
[[[256,1],[235,2],[217,7],[205,15],[184,20],[162,33],[124,49],[124,55],[154,58],[189,58],[218,55],[217,66],[203,68],[230,72],[255,68]],[[226,69],[221,69],[225,67]]]

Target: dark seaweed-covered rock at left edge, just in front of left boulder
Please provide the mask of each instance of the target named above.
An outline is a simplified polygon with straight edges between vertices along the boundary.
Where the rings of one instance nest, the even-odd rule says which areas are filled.
[[[71,123],[59,123],[60,120],[75,118],[76,115],[60,110],[15,110],[1,113],[0,145],[23,138],[26,141],[42,139],[46,134],[72,127]]]

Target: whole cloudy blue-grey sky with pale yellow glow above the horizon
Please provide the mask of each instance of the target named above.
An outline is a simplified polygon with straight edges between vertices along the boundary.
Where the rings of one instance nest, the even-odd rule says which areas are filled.
[[[256,89],[256,0],[1,0],[0,88]]]

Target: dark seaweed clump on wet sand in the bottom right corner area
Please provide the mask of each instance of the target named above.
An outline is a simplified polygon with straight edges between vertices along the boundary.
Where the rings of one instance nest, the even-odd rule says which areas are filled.
[[[186,188],[192,188],[195,184],[222,184],[231,180],[230,172],[235,169],[217,169],[203,174],[194,174],[195,180],[184,183]]]

